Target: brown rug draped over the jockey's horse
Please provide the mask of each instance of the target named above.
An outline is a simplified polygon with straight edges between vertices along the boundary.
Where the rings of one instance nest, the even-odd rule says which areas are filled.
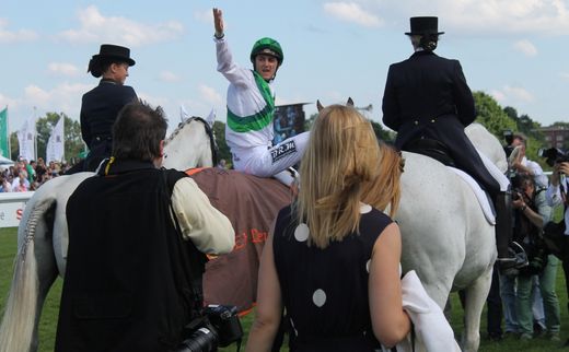
[[[186,172],[208,195],[213,207],[235,230],[235,247],[210,257],[204,277],[205,304],[253,307],[257,295],[260,253],[278,211],[292,201],[290,188],[274,178],[260,178],[217,167]]]

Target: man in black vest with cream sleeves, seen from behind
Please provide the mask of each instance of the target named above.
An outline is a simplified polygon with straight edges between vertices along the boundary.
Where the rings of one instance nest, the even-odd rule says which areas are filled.
[[[191,178],[161,168],[166,128],[162,108],[127,104],[113,156],[69,197],[57,352],[209,352],[216,322],[237,319],[204,312],[205,254],[231,251],[234,231]]]

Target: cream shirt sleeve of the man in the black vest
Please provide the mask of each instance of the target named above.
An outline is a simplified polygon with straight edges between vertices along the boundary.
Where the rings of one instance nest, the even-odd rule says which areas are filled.
[[[206,193],[189,177],[181,178],[172,191],[172,207],[182,234],[205,254],[227,254],[235,245],[229,219],[209,202]]]

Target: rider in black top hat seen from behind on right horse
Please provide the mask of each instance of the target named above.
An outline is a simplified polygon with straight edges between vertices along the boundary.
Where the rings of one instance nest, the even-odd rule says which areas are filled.
[[[476,118],[474,97],[458,60],[437,56],[438,17],[410,19],[415,52],[390,67],[383,95],[383,122],[397,131],[395,145],[417,151],[419,142],[434,141],[450,154],[454,166],[473,176],[490,195],[497,212],[498,262],[502,267],[524,265],[509,255],[511,209],[500,184],[488,172],[464,128]]]

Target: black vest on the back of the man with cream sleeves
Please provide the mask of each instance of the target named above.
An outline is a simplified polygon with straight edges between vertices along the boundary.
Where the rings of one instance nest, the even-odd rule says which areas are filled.
[[[175,231],[161,171],[139,162],[117,162],[111,171],[85,179],[67,203],[69,248],[55,350],[169,351],[201,307],[190,277],[199,274],[201,282],[205,255]]]

